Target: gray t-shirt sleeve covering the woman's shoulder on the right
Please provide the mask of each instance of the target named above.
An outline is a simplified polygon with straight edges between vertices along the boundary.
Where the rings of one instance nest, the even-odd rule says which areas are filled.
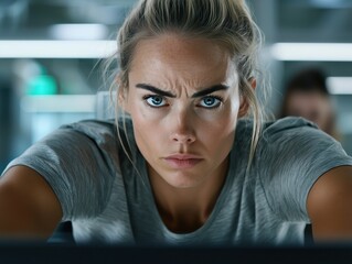
[[[314,182],[331,168],[352,165],[338,141],[300,118],[267,127],[258,153],[268,204],[287,221],[309,221],[307,197]]]

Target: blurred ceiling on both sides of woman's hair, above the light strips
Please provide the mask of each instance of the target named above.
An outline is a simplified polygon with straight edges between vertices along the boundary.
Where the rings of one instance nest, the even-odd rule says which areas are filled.
[[[114,33],[135,2],[136,0],[1,0],[0,38],[47,40],[52,37],[50,26],[72,23],[104,24],[109,33]],[[262,4],[258,11],[264,19],[266,14],[275,12],[275,21],[271,23],[275,26],[274,42],[352,42],[351,0],[248,2]],[[267,19],[273,20],[269,16]]]

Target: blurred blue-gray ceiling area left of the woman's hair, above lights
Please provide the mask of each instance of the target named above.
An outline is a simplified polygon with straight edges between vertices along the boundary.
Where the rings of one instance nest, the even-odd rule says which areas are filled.
[[[56,24],[102,24],[115,31],[134,0],[1,0],[0,38],[49,40]],[[100,38],[108,36],[102,36]]]

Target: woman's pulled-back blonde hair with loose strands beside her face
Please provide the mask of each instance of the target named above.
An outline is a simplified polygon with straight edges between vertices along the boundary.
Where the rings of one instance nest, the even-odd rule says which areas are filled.
[[[254,120],[249,166],[264,116],[250,84],[258,73],[262,34],[244,0],[140,0],[118,33],[118,54],[114,59],[119,65],[116,73],[119,78],[115,78],[118,81],[111,90],[116,89],[117,95],[128,91],[128,73],[138,42],[170,31],[212,40],[228,51],[238,73],[239,92],[247,100],[248,114]]]

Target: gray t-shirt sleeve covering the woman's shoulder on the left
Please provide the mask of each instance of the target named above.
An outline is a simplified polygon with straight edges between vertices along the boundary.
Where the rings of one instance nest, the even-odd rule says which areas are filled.
[[[61,202],[63,220],[93,217],[102,212],[116,174],[111,163],[118,162],[118,157],[108,154],[116,147],[111,136],[104,134],[104,131],[99,134],[98,128],[82,127],[96,130],[97,134],[90,136],[63,127],[32,145],[6,168],[25,165],[41,174]]]

